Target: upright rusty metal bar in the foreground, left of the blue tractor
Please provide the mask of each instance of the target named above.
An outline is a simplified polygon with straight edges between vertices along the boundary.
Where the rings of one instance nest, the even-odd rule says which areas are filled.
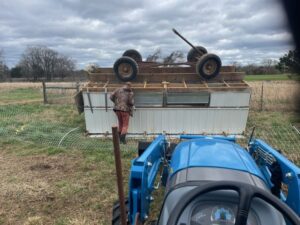
[[[118,194],[119,194],[119,202],[120,202],[121,225],[127,225],[126,206],[125,206],[125,197],[124,197],[124,189],[123,189],[122,161],[121,161],[121,154],[120,154],[120,140],[119,140],[117,127],[112,127],[112,135],[113,135],[113,143],[114,143],[117,185],[118,185]]]

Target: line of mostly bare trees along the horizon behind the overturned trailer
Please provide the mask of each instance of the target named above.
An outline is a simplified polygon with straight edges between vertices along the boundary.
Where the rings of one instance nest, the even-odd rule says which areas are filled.
[[[148,62],[167,64],[185,60],[181,51],[173,51],[163,57],[160,49],[156,49],[146,58]],[[247,65],[232,62],[232,65],[236,67],[237,71],[246,74],[292,73],[300,75],[300,54],[297,50],[290,50],[279,60],[265,59],[259,64]],[[82,71],[75,71],[75,61],[72,58],[45,46],[27,47],[18,64],[11,69],[5,64],[4,52],[0,50],[0,81],[7,81],[10,78],[23,78],[28,81],[64,80],[74,74],[82,75]]]

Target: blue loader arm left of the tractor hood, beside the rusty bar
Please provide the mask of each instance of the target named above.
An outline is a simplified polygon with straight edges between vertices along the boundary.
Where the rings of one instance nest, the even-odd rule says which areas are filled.
[[[167,141],[164,135],[158,136],[145,152],[131,162],[129,180],[129,222],[135,223],[136,216],[144,221],[148,218],[154,182],[163,163]]]

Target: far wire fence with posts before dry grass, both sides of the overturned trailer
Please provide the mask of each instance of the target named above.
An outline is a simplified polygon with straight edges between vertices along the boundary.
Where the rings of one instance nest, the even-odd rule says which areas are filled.
[[[248,84],[251,87],[250,110],[299,110],[299,82],[254,81]],[[1,103],[14,104],[24,102],[73,104],[74,96],[82,85],[83,83],[79,82],[52,82],[44,83],[44,85],[42,83],[0,83],[0,105]],[[19,98],[14,99],[14,96]]]

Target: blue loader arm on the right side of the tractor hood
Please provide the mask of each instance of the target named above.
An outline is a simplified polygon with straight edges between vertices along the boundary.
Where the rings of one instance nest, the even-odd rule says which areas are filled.
[[[287,195],[281,192],[281,199],[300,216],[300,169],[278,151],[260,139],[253,140],[249,145],[249,153],[256,161],[266,177],[270,187],[271,166],[278,163],[282,172],[282,183],[287,186]]]

